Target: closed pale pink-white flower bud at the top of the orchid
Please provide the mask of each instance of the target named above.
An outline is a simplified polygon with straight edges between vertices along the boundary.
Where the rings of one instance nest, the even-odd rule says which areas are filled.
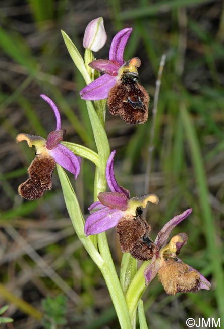
[[[86,27],[83,47],[93,52],[98,52],[106,43],[106,32],[103,25],[103,18],[93,19]]]

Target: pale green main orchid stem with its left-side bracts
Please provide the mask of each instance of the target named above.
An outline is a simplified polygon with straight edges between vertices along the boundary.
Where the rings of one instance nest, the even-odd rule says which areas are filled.
[[[68,51],[75,65],[80,70],[83,78],[86,81],[86,84],[89,84],[91,82],[91,71],[89,69],[88,63],[93,59],[92,52],[86,50],[85,62],[84,62],[77,48],[73,44],[72,40],[68,37],[68,35],[64,31],[62,31],[62,34],[66,46],[68,48]],[[94,182],[94,200],[96,201],[99,192],[104,192],[106,190],[105,168],[106,168],[107,159],[110,154],[108,138],[104,130],[105,100],[95,102],[96,109],[94,108],[91,101],[86,101],[86,105],[87,105],[88,115],[90,118],[93,135],[98,151],[98,159],[95,156],[95,154],[91,155],[89,150],[82,149],[81,151],[82,152],[83,150],[87,151],[85,153],[86,156],[92,157],[92,160],[95,157],[95,162],[98,163],[98,167],[96,168],[96,174],[95,174],[95,182]],[[101,233],[97,237],[98,248],[100,251],[100,255],[99,255],[93,244],[94,243],[93,239],[91,237],[86,238],[84,235],[83,217],[79,208],[78,201],[76,199],[76,195],[72,189],[72,186],[69,180],[67,179],[67,177],[64,175],[64,171],[62,171],[62,169],[59,166],[57,166],[57,168],[59,171],[59,176],[61,176],[60,180],[63,186],[63,193],[64,193],[67,209],[69,211],[69,215],[72,219],[77,235],[79,236],[86,250],[88,251],[88,253],[92,257],[94,262],[97,264],[97,266],[100,268],[103,274],[111,299],[114,303],[121,328],[130,329],[131,320],[129,317],[127,304],[115,269],[114,262],[111,258],[108,242],[106,239],[106,234]],[[74,203],[76,203],[76,207]],[[76,219],[77,216],[78,216],[78,221]],[[102,261],[98,259],[101,257],[102,257]]]

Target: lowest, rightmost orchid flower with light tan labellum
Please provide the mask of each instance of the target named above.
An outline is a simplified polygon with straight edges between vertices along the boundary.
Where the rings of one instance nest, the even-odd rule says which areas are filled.
[[[158,233],[154,242],[156,252],[154,252],[151,263],[144,271],[146,285],[158,274],[158,279],[164,290],[170,295],[210,289],[210,282],[201,273],[177,258],[182,246],[187,243],[187,234],[179,233],[172,237],[168,243],[171,231],[191,212],[192,209],[187,209],[183,214],[175,216]]]

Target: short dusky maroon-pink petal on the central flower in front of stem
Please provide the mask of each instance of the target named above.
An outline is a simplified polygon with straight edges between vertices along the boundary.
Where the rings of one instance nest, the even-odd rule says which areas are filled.
[[[124,193],[101,192],[98,194],[99,201],[110,209],[118,209],[123,212],[128,208],[128,198]]]

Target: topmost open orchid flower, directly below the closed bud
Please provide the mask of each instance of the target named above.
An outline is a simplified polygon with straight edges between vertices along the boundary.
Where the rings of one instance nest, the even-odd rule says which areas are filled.
[[[128,124],[143,124],[148,118],[149,96],[138,83],[138,67],[141,61],[134,57],[123,59],[125,46],[132,28],[118,32],[112,40],[109,59],[98,59],[89,66],[105,73],[80,91],[82,99],[100,100],[108,97],[107,105],[112,115],[120,117]]]

